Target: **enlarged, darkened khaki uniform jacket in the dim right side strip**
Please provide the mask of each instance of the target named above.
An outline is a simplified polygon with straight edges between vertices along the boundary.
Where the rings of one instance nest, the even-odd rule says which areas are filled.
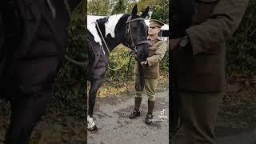
[[[237,30],[248,0],[195,1],[190,44],[174,48],[174,79],[180,90],[218,92],[226,88],[226,40]],[[192,51],[192,52],[191,52]]]

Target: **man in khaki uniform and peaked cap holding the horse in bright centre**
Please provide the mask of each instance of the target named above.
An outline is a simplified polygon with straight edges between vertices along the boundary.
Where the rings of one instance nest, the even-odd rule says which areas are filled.
[[[142,70],[145,78],[146,94],[148,96],[148,113],[146,114],[146,124],[151,124],[153,119],[153,110],[155,103],[155,90],[158,84],[159,78],[159,62],[162,60],[166,53],[166,42],[163,42],[158,38],[158,33],[161,27],[164,25],[163,22],[158,20],[150,20],[149,39],[150,39],[150,52],[149,58],[146,61],[141,62]],[[135,89],[138,85],[138,62],[134,66],[135,74]],[[142,91],[136,90],[135,96],[135,107],[129,118],[133,119],[140,115],[139,107],[142,102]]]

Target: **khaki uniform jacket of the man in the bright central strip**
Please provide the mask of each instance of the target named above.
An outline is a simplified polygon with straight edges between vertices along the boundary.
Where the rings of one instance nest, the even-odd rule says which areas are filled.
[[[153,46],[150,46],[149,57],[146,58],[146,65],[142,65],[144,77],[148,79],[159,78],[159,63],[166,54],[166,42],[157,39],[158,42],[154,42]],[[152,42],[152,41],[151,41]],[[138,74],[138,62],[135,62],[134,74]]]

